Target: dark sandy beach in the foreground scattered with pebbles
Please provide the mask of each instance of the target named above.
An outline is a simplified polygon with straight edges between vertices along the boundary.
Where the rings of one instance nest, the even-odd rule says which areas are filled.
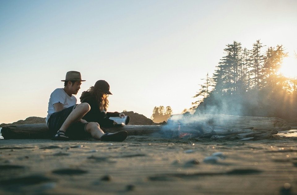
[[[297,194],[297,137],[0,140],[0,170],[0,194]]]

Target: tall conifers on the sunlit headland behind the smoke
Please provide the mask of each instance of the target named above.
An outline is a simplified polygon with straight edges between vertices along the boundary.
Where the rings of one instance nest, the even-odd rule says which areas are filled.
[[[296,122],[297,80],[278,72],[288,53],[282,45],[263,52],[264,47],[260,40],[251,50],[236,41],[226,45],[213,76],[206,75],[194,96],[195,113],[275,116]]]

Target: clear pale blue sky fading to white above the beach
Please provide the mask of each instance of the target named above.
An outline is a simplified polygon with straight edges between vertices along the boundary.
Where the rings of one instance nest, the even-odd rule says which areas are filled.
[[[234,40],[293,55],[296,10],[296,0],[0,0],[0,123],[46,117],[70,70],[87,80],[77,99],[103,79],[109,111],[180,113]]]

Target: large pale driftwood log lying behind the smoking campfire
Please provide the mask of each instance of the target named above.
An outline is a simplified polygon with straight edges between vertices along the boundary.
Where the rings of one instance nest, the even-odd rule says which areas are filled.
[[[255,130],[290,130],[291,126],[277,117],[255,117],[237,115],[172,115],[169,119],[180,123],[208,123],[213,127],[243,129],[253,127]]]

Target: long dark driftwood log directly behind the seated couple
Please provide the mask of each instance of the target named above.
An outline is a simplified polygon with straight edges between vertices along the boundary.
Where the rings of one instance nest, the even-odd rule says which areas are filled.
[[[128,135],[143,135],[161,130],[160,125],[124,125],[114,128],[102,128],[104,132],[127,131]],[[22,124],[3,127],[4,139],[49,139],[49,129],[46,124]]]

